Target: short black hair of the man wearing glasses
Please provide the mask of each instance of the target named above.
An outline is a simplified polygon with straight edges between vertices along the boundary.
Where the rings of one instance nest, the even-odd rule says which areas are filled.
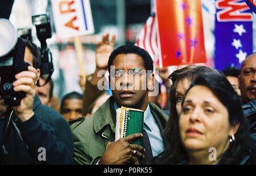
[[[109,56],[109,61],[108,61],[108,70],[110,72],[110,66],[113,63],[113,60],[115,57],[117,57],[118,54],[138,54],[143,58],[144,61],[144,67],[146,70],[153,70],[153,61],[152,58],[150,57],[150,54],[142,48],[139,48],[138,46],[135,45],[122,45],[119,46],[117,49],[115,49]]]

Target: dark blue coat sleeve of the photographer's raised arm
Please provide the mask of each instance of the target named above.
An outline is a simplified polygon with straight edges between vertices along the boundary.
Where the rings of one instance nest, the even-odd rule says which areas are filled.
[[[73,164],[72,154],[56,140],[52,127],[40,121],[36,115],[18,123],[18,128],[32,157],[38,158],[43,164]],[[45,157],[42,155],[44,152]]]

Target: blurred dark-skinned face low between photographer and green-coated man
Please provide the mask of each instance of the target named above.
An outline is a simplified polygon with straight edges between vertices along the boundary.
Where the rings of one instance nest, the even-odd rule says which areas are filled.
[[[66,121],[73,121],[82,117],[82,100],[77,98],[66,99],[61,108],[61,114]]]

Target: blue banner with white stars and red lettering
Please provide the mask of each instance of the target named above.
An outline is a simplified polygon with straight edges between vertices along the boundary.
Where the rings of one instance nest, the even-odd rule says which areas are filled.
[[[246,0],[216,1],[215,68],[241,67],[253,52],[253,16]]]

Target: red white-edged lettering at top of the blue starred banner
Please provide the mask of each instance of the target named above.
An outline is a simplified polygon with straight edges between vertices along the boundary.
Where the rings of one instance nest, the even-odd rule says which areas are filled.
[[[240,0],[219,0],[216,2],[217,8],[222,9],[217,12],[218,22],[251,22],[253,20],[253,15],[250,12],[243,12],[249,10],[246,3],[238,1]]]

